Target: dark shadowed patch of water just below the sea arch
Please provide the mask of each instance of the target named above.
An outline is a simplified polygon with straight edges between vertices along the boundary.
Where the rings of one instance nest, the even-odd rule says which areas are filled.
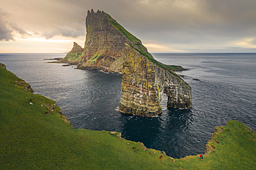
[[[167,108],[156,117],[122,114],[120,118],[122,138],[143,142],[147,148],[165,151],[174,158],[182,158],[200,148],[193,133],[192,109]]]

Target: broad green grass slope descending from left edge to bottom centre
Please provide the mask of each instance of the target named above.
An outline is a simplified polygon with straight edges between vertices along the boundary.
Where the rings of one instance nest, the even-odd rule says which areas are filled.
[[[0,79],[0,169],[179,169],[119,133],[73,129],[58,106],[48,109],[53,100],[1,67]]]

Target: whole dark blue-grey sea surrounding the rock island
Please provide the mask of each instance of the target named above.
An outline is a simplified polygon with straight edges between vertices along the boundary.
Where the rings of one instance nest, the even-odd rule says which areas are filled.
[[[187,68],[179,74],[192,87],[192,108],[166,108],[164,96],[163,113],[156,117],[117,110],[121,74],[77,70],[43,60],[64,55],[0,54],[0,62],[25,79],[34,93],[55,100],[75,129],[119,131],[127,140],[143,142],[174,158],[204,153],[214,126],[228,120],[256,130],[256,54],[153,53],[160,62]]]

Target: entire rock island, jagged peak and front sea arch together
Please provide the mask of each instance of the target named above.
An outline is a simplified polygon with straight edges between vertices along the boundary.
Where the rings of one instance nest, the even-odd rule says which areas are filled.
[[[167,107],[190,108],[190,86],[176,75],[173,68],[157,62],[141,41],[103,11],[87,12],[84,48],[74,42],[64,61],[77,68],[122,71],[122,91],[119,111],[152,116],[161,113],[163,93]]]

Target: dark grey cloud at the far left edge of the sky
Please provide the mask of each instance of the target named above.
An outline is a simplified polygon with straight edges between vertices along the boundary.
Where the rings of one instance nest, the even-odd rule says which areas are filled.
[[[17,32],[22,37],[28,37],[28,32],[19,27],[16,23],[8,21],[8,12],[0,8],[0,41],[15,40],[14,33]]]

